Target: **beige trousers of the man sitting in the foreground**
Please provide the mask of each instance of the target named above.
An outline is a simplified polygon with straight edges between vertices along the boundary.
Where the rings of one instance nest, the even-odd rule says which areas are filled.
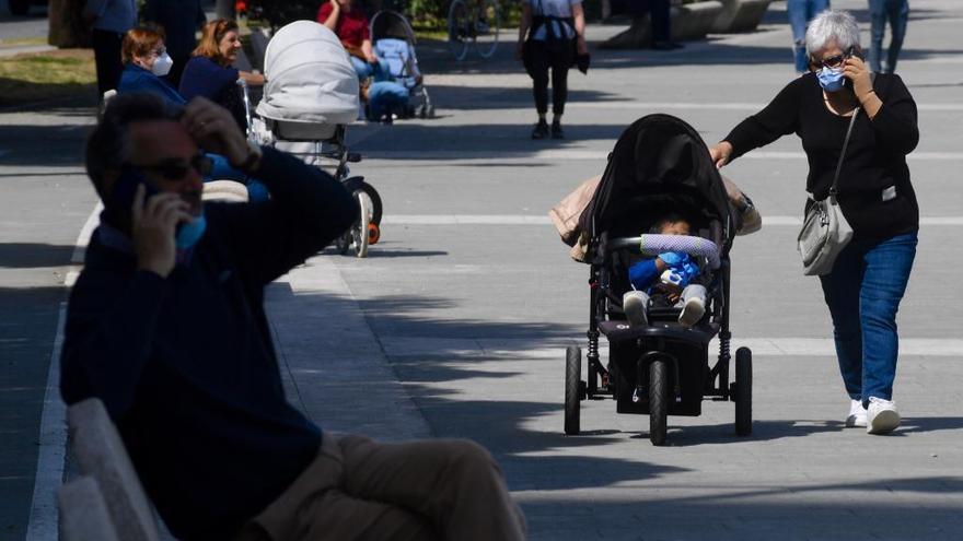
[[[501,469],[477,444],[325,433],[314,461],[235,541],[524,538]]]

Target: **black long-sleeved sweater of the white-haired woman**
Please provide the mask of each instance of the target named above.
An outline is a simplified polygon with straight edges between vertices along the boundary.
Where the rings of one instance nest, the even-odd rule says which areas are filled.
[[[883,106],[873,119],[865,111],[857,117],[837,190],[856,236],[882,239],[919,228],[919,207],[906,166],[906,154],[916,148],[919,130],[916,103],[898,75],[878,75],[873,90]],[[794,132],[809,160],[807,191],[824,199],[833,185],[849,120],[826,108],[819,80],[808,73],[786,85],[724,140],[732,144],[734,160]]]

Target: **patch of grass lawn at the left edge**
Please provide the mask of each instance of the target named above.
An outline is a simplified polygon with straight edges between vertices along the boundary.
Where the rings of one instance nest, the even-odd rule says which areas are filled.
[[[91,49],[60,49],[0,58],[0,107],[95,94]]]

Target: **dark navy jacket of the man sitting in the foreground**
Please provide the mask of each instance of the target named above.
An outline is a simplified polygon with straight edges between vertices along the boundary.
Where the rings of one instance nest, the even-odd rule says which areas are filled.
[[[271,200],[207,204],[206,234],[166,279],[138,271],[98,230],[70,294],[63,399],[104,401],[181,539],[229,538],[321,444],[285,399],[264,287],[346,231],[358,207],[329,175],[270,149],[258,178]]]

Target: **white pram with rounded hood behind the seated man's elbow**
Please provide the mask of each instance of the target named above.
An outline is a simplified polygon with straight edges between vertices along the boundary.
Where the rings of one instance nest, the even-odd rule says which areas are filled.
[[[245,87],[248,138],[328,170],[355,193],[360,219],[337,247],[341,254],[353,247],[358,257],[366,257],[369,244],[380,237],[382,205],[378,191],[363,177],[350,177],[347,166],[361,161],[345,145],[346,127],[360,108],[358,75],[348,52],[326,26],[297,21],[268,43],[264,74],[257,117],[251,115]]]

